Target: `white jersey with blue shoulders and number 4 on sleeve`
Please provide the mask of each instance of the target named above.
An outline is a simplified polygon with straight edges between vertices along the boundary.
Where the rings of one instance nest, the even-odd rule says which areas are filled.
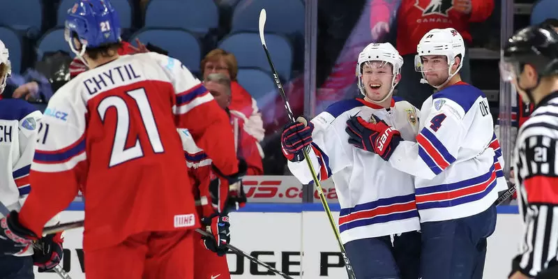
[[[481,213],[507,190],[504,160],[484,93],[460,82],[421,107],[416,142],[400,142],[389,162],[415,176],[421,222]]]

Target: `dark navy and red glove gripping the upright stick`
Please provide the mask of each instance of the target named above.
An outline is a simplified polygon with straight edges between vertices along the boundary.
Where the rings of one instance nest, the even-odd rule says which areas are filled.
[[[285,125],[281,134],[281,147],[285,157],[291,162],[304,160],[303,148],[312,143],[314,124],[300,116],[295,123]]]

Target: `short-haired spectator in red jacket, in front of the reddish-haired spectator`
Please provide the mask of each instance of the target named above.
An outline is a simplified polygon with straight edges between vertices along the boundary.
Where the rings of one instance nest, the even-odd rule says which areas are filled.
[[[223,73],[211,73],[206,75],[204,86],[213,95],[220,107],[229,114],[234,132],[234,146],[236,146],[236,154],[239,158],[246,160],[248,164],[247,175],[262,175],[264,168],[262,167],[262,156],[259,154],[257,140],[246,133],[244,124],[246,117],[242,112],[230,109],[232,92],[232,82]]]

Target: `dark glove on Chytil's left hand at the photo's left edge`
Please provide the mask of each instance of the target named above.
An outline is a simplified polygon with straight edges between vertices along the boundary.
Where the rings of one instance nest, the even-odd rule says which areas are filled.
[[[13,255],[25,252],[37,236],[17,220],[17,212],[12,211],[0,219],[0,251]]]

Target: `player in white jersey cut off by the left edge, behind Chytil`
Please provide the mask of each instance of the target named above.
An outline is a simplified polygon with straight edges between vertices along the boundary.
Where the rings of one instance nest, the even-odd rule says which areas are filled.
[[[0,94],[10,76],[9,52],[0,40]],[[20,211],[31,185],[29,169],[35,151],[38,121],[43,116],[36,107],[20,99],[2,99],[0,95],[0,202],[8,210]],[[54,225],[56,219],[49,225]],[[1,226],[1,224],[0,224]],[[33,264],[40,271],[52,269],[62,257],[61,234],[45,236],[40,245],[48,248],[22,248],[16,255],[5,255],[0,246],[0,278],[33,277]]]

